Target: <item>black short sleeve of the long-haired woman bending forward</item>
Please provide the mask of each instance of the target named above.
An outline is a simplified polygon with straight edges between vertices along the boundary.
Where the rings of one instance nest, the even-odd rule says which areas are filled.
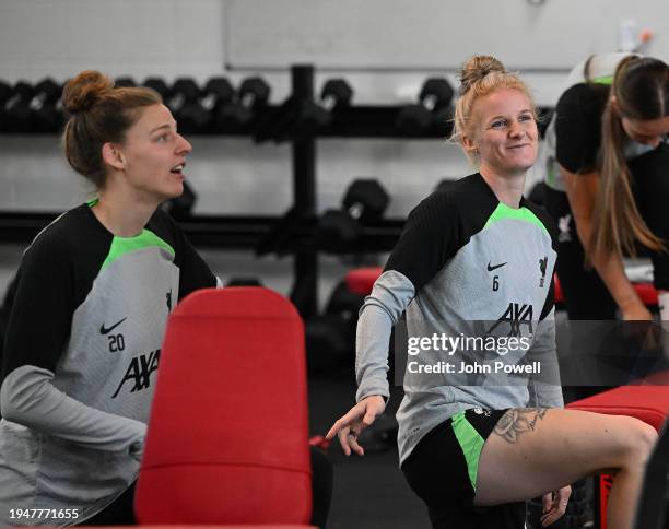
[[[605,92],[608,93],[607,87],[580,83],[568,89],[558,102],[555,157],[572,173],[587,173],[597,166]]]

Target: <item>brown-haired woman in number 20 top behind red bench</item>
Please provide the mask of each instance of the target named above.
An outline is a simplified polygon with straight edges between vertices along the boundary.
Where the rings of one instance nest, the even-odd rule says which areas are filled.
[[[23,256],[0,393],[3,525],[131,524],[167,316],[216,278],[159,208],[190,143],[161,97],[96,71],[62,101],[70,165],[97,198]]]

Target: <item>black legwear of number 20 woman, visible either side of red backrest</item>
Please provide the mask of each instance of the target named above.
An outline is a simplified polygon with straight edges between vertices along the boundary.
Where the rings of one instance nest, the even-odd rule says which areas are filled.
[[[325,528],[332,499],[332,463],[316,447],[312,452],[312,520],[310,525]],[[84,520],[86,526],[133,526],[134,483],[105,509]]]

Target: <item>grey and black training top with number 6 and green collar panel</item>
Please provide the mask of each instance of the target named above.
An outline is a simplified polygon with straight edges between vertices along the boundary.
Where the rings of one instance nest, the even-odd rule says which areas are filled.
[[[543,210],[525,199],[519,209],[501,203],[480,174],[431,195],[411,212],[360,313],[357,401],[389,396],[389,337],[404,310],[409,338],[525,338],[531,345],[507,352],[504,363],[539,362],[542,373],[472,378],[407,371],[397,413],[400,463],[430,430],[462,410],[563,405],[553,309],[555,240]],[[458,350],[449,360],[466,354]],[[493,351],[485,362],[500,356]]]

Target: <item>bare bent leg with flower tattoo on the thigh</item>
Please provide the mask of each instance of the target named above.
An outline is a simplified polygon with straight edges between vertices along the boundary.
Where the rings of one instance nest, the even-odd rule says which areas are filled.
[[[630,529],[655,428],[634,418],[576,410],[509,410],[479,462],[476,505],[540,496],[605,470],[617,473],[610,529]]]

